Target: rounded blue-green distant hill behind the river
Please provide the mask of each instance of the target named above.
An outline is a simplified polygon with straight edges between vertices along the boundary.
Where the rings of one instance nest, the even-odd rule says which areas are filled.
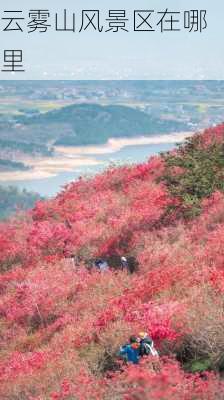
[[[133,137],[187,129],[177,121],[151,117],[126,106],[80,104],[35,116],[17,117],[20,129],[35,134],[39,144],[51,141],[56,145],[74,146],[102,144],[110,137]],[[189,128],[188,128],[189,129]]]

